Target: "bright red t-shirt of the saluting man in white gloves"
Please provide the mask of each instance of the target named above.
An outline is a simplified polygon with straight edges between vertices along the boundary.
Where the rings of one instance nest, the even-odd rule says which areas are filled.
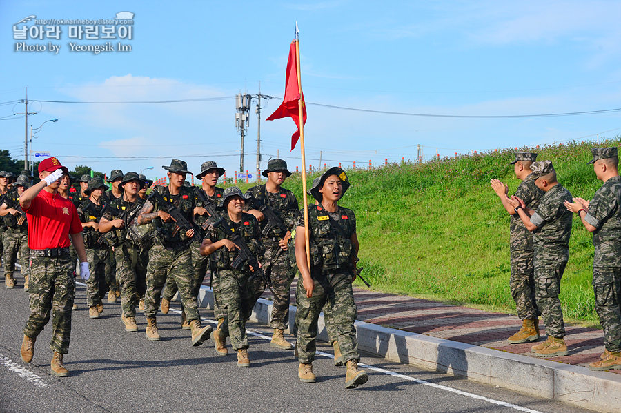
[[[31,250],[68,247],[71,245],[69,235],[82,230],[75,205],[58,193],[41,190],[24,212],[28,219],[28,247]]]

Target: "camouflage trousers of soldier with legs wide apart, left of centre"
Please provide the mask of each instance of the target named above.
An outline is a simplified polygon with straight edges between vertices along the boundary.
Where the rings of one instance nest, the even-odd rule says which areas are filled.
[[[198,304],[196,296],[193,294],[192,252],[189,248],[166,250],[161,245],[153,245],[149,250],[146,274],[147,288],[144,294],[144,315],[146,318],[153,319],[157,315],[161,290],[164,288],[168,277],[177,284],[188,323],[194,320],[200,322]]]

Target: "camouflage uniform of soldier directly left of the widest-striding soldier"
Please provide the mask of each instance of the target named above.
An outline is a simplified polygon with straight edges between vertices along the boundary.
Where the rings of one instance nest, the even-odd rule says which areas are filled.
[[[128,223],[144,205],[144,199],[138,198],[136,202],[125,201],[123,197],[110,201],[110,207],[117,210],[115,216],[112,212],[103,214],[108,221],[123,219],[125,225],[122,228],[112,228],[106,232],[106,239],[114,247],[117,261],[117,280],[121,288],[121,309],[123,316],[135,317],[138,305],[139,285],[144,285],[146,279],[146,263],[148,255],[128,238]],[[142,292],[144,294],[144,291]]]

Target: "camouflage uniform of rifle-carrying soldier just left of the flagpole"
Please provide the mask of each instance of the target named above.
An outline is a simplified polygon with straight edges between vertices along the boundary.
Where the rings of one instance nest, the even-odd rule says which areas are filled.
[[[279,188],[279,191],[273,194],[266,190],[266,185],[257,185],[254,188],[250,188],[246,192],[246,195],[252,195],[262,205],[270,206],[273,211],[280,216],[280,219],[282,219],[288,231],[295,230],[299,206],[293,192],[284,188]],[[248,201],[244,210],[250,210],[252,208],[258,210],[260,207],[261,205],[254,205],[252,202]],[[259,223],[261,230],[263,230],[267,223],[267,219]],[[270,278],[272,289],[274,290],[274,303],[270,327],[279,330],[286,330],[289,325],[290,287],[291,281],[293,281],[289,272],[288,252],[283,251],[279,244],[279,241],[282,240],[285,235],[286,233],[282,232],[282,230],[277,227],[273,228],[266,236],[263,234],[261,235],[261,241],[265,247],[265,259],[262,262],[262,268],[265,274]],[[265,291],[266,283],[263,279],[255,277],[254,285],[255,297],[253,299],[253,305],[261,298],[261,295]]]

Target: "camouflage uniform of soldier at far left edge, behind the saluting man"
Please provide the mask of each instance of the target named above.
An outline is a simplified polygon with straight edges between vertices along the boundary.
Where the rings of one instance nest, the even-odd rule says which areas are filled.
[[[8,200],[6,199],[8,198]],[[8,208],[17,208],[19,205],[19,195],[17,188],[6,194],[5,203]],[[7,202],[8,201],[8,202]],[[18,224],[19,216],[7,214],[4,216],[7,229],[3,232],[4,245],[4,275],[12,276],[15,271],[15,262],[17,261],[17,252],[19,250],[19,262],[21,264],[21,275],[28,276],[28,258],[30,257],[30,249],[28,248],[28,221],[24,220],[21,225]]]

